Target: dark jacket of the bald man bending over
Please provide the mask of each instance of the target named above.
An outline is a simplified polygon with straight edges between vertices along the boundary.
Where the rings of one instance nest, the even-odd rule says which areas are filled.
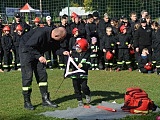
[[[50,49],[52,28],[43,27],[31,30],[24,34],[20,40],[20,51],[28,53],[29,60],[39,59],[44,52]]]

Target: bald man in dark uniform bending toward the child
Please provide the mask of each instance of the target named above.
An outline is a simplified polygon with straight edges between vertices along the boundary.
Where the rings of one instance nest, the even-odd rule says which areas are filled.
[[[32,77],[35,74],[42,94],[42,105],[57,107],[52,103],[48,93],[47,73],[44,52],[49,49],[54,40],[62,40],[66,36],[66,30],[59,28],[37,28],[24,34],[20,41],[19,52],[22,72],[22,93],[24,96],[24,108],[34,110],[30,96],[32,92]]]

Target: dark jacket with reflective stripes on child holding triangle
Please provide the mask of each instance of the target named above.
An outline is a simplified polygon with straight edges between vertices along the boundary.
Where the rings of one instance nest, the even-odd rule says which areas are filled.
[[[87,79],[88,77],[88,69],[90,67],[90,52],[87,51],[87,52],[81,52],[81,53],[78,53],[78,52],[73,52],[72,53],[72,57],[73,57],[73,60],[75,61],[75,63],[78,65],[79,63],[81,63],[83,66],[82,66],[82,70],[85,71],[85,73],[75,73],[71,76],[71,78],[82,78],[82,79]],[[72,67],[72,70],[75,71],[77,70],[75,67]]]

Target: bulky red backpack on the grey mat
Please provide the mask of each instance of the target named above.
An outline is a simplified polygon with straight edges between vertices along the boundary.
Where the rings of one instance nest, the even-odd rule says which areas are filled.
[[[121,109],[133,114],[147,114],[152,112],[153,101],[148,98],[148,94],[140,88],[127,88],[124,96],[124,106]]]

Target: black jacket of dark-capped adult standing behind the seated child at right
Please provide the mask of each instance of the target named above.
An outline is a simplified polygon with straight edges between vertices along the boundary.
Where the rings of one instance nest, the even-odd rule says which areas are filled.
[[[136,30],[134,35],[134,47],[152,45],[152,29],[146,27],[143,29],[142,26]]]

